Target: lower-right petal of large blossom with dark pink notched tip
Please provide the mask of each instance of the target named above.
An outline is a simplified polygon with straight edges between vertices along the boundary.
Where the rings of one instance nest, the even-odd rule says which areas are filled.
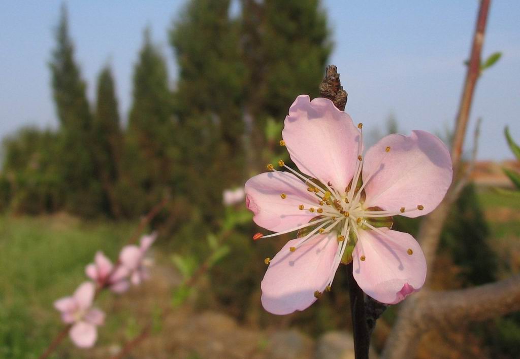
[[[421,289],[426,261],[419,243],[403,232],[382,229],[385,235],[360,230],[354,248],[354,278],[370,297],[395,304]],[[412,250],[412,254],[408,250]],[[365,256],[365,260],[361,260]]]

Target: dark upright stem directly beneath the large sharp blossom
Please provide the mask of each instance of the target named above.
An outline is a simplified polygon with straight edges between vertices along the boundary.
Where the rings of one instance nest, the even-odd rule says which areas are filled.
[[[365,294],[354,279],[352,262],[346,265],[348,292],[350,296],[350,314],[354,331],[354,353],[356,359],[368,359],[370,331],[367,325]]]

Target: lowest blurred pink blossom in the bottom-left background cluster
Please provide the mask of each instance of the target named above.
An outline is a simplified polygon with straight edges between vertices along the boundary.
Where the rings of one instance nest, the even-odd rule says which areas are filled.
[[[90,348],[97,339],[97,325],[105,322],[105,313],[91,308],[96,286],[92,282],[81,284],[72,297],[64,297],[54,302],[61,312],[61,320],[73,324],[69,330],[72,341],[80,348]]]

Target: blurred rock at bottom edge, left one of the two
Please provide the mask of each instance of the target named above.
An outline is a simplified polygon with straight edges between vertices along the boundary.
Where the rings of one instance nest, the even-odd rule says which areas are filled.
[[[269,336],[266,357],[271,359],[311,359],[313,340],[296,329],[276,331]]]

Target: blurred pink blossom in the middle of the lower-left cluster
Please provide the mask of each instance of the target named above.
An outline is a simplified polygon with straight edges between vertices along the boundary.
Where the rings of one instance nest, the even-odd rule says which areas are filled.
[[[115,293],[122,293],[129,287],[127,280],[128,269],[124,265],[118,265],[114,270],[110,259],[101,251],[96,253],[94,263],[90,263],[85,267],[85,273],[100,288],[108,286]]]

